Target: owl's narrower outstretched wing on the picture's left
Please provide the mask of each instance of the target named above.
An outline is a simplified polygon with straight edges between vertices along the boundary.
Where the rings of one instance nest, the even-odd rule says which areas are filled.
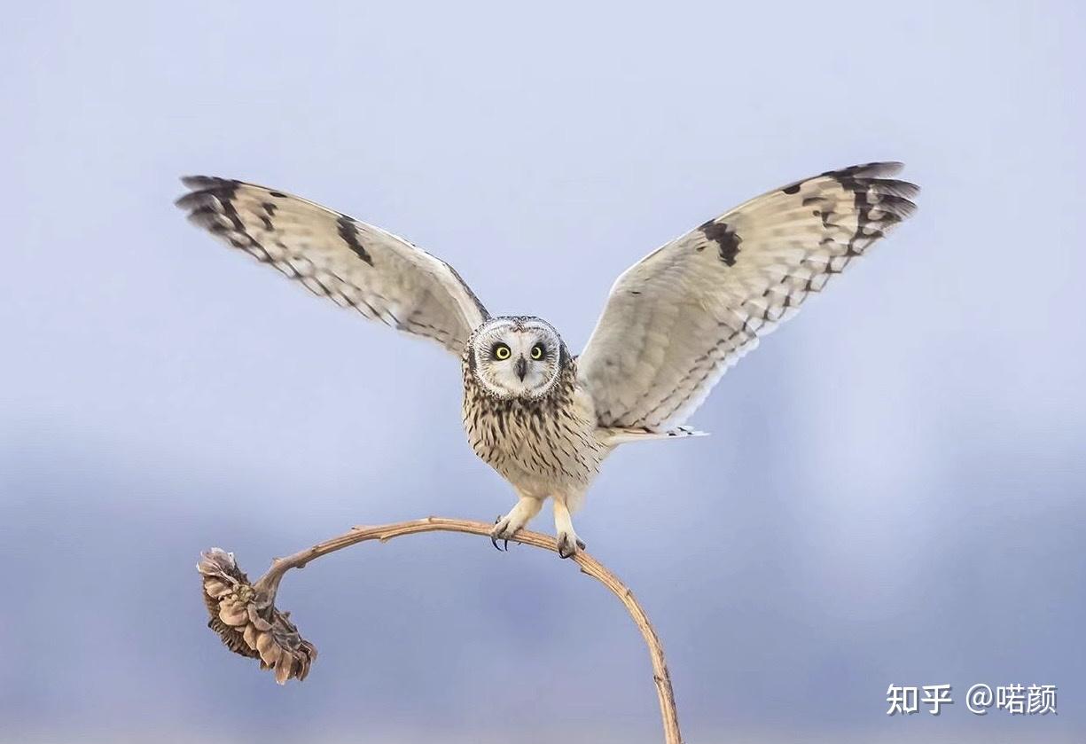
[[[299,197],[225,178],[182,178],[189,219],[331,298],[459,355],[488,317],[445,262],[379,227]]]

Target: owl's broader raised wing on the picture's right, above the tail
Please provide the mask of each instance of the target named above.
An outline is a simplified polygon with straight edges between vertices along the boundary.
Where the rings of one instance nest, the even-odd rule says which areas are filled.
[[[915,210],[869,163],[762,194],[618,278],[578,362],[601,426],[682,424],[724,371]]]

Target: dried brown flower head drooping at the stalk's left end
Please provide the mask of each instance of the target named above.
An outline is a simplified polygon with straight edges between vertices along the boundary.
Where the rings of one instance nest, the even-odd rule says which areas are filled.
[[[213,547],[201,554],[197,569],[203,577],[207,627],[235,654],[260,659],[261,669],[275,669],[279,684],[304,680],[317,650],[298,633],[290,613],[275,607],[275,592],[258,591],[233,559],[233,553]]]

